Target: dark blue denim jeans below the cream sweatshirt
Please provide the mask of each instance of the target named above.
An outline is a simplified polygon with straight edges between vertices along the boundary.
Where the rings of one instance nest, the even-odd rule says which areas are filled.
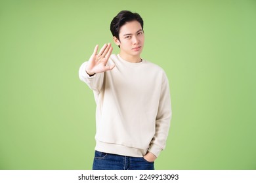
[[[93,170],[154,170],[154,162],[95,151]]]

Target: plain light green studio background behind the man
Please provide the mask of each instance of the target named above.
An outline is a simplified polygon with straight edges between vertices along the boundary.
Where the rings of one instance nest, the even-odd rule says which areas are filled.
[[[91,169],[96,105],[78,69],[114,44],[124,9],[144,19],[142,58],[169,78],[156,169],[256,169],[253,0],[0,0],[0,169]]]

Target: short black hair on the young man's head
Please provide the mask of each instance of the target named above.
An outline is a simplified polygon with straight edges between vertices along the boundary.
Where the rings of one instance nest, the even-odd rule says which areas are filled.
[[[120,11],[117,16],[115,16],[110,24],[110,31],[114,37],[119,40],[119,30],[121,26],[123,26],[126,22],[131,22],[133,20],[137,20],[143,31],[143,20],[138,13],[133,13],[128,10]]]

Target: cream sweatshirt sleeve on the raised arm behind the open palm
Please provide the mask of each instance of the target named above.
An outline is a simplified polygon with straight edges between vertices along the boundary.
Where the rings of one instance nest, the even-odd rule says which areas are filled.
[[[104,80],[104,73],[97,73],[93,76],[89,76],[85,69],[87,67],[87,61],[84,62],[79,68],[79,78],[81,81],[85,82],[91,90],[96,93],[100,93],[102,88],[103,80]]]

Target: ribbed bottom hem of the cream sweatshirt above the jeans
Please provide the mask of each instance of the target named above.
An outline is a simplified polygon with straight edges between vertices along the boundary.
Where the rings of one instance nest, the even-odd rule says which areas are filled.
[[[131,156],[131,157],[142,157],[146,154],[148,149],[142,150],[138,148],[131,148],[127,146],[121,146],[119,144],[110,144],[105,142],[96,141],[95,150],[100,152],[118,154],[122,156]]]

